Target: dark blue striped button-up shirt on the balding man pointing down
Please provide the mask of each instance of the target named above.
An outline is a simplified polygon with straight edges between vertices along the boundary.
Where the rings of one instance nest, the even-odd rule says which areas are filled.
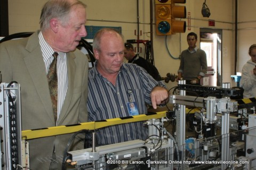
[[[151,104],[150,92],[157,83],[137,64],[123,63],[116,78],[116,86],[113,86],[94,66],[89,72],[88,120],[100,121],[130,116],[127,107],[130,97],[137,103],[139,114],[146,114],[146,104]],[[127,94],[127,90],[132,90],[131,96]],[[97,132],[99,145],[135,139],[145,140],[147,137],[148,129],[143,126],[143,122],[109,126]]]

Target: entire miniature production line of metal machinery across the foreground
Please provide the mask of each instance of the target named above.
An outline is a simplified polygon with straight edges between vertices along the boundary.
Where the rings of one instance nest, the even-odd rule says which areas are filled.
[[[93,132],[92,148],[68,151],[66,162],[73,165],[74,169],[255,169],[256,133],[253,126],[256,124],[256,116],[250,113],[254,111],[254,107],[239,108],[237,101],[229,98],[236,93],[236,90],[228,86],[212,89],[219,92],[221,98],[186,96],[186,90],[190,90],[193,86],[186,86],[183,81],[179,81],[179,86],[180,95],[170,96],[170,103],[174,105],[173,111],[138,115],[141,119],[121,118],[115,120],[117,122],[109,123],[145,121],[145,125],[148,126],[148,139],[96,147],[95,132]],[[29,168],[28,143],[30,138],[35,138],[30,133],[36,131],[21,131],[19,89],[17,83],[11,85],[1,83],[0,112],[3,116],[0,117],[0,125],[3,128],[2,132],[5,132],[1,133],[1,139],[4,140],[1,143],[1,151],[4,153],[1,164],[5,165],[3,169],[17,166]],[[194,118],[196,138],[185,137],[186,105],[199,108]],[[17,109],[13,109],[12,106]],[[10,111],[15,111],[11,114],[17,115],[9,116]],[[170,120],[177,122],[174,135],[164,128],[164,122]],[[14,128],[7,128],[10,127],[10,122]],[[77,125],[73,132],[94,126],[91,122]],[[217,134],[218,127],[221,128],[220,135]],[[37,134],[54,131],[55,133],[50,135],[58,135],[67,132],[68,128],[70,126],[46,128],[41,130],[42,133],[37,132]],[[66,130],[61,131],[61,129]],[[68,129],[69,133],[71,131]],[[15,139],[13,140],[12,137]],[[18,149],[12,150],[13,145]],[[13,158],[13,155],[17,157]]]

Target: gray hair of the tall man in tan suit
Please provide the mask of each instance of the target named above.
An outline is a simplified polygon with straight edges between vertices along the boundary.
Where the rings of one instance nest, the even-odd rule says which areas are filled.
[[[50,0],[46,2],[42,8],[39,21],[41,30],[49,29],[50,20],[53,18],[59,19],[62,25],[66,25],[69,20],[71,8],[76,5],[86,7],[81,1]]]

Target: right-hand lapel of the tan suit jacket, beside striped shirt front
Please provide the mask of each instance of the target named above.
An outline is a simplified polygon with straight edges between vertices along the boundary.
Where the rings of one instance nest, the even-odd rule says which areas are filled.
[[[76,73],[76,63],[74,61],[75,55],[74,53],[67,53],[67,67],[68,67],[68,91],[64,103],[61,108],[61,112],[59,115],[59,119],[57,121],[57,125],[61,124],[63,119],[68,114],[68,108],[71,103],[71,99],[73,96],[73,89],[74,89],[74,79]]]

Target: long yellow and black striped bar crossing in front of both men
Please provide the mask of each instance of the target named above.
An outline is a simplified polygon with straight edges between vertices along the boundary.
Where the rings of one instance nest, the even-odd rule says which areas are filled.
[[[21,135],[22,135],[22,138],[29,140],[29,139],[35,139],[35,138],[50,137],[53,135],[74,133],[84,129],[94,130],[94,129],[99,129],[99,128],[103,128],[110,125],[146,121],[152,118],[165,117],[165,115],[166,115],[166,111],[148,113],[143,115],[135,115],[135,116],[129,116],[129,117],[111,118],[111,119],[97,121],[97,122],[86,122],[86,123],[79,123],[79,124],[66,125],[66,126],[54,126],[50,128],[43,128],[43,129],[25,130],[21,132],[22,133]]]

